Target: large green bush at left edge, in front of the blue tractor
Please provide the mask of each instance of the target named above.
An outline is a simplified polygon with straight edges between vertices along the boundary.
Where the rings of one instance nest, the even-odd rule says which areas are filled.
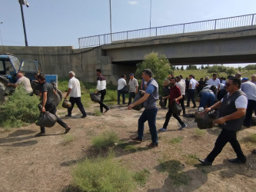
[[[0,106],[1,127],[21,127],[23,124],[35,123],[38,118],[39,99],[28,96],[22,87],[8,97],[8,101]]]

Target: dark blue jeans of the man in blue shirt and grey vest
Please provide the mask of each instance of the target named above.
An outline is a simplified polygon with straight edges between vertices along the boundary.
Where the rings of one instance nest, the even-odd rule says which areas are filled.
[[[158,144],[158,131],[156,129],[155,120],[158,114],[158,108],[145,109],[138,119],[138,138],[142,140],[144,132],[144,123],[148,121],[148,127],[151,134],[153,144]]]

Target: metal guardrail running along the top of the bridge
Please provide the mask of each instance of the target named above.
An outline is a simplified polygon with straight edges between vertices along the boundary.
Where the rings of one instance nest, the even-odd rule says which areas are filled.
[[[201,22],[167,25],[156,28],[142,28],[133,31],[121,31],[112,34],[78,38],[79,48],[110,45],[129,41],[144,41],[148,38],[165,38],[168,35],[184,36],[191,32],[216,31],[219,29],[238,28],[256,25],[256,14],[240,15],[230,18],[218,18]]]

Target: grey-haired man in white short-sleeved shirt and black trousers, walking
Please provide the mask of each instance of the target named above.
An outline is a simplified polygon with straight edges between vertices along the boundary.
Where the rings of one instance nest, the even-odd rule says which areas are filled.
[[[68,108],[68,114],[66,114],[66,117],[71,117],[72,109],[74,108],[74,105],[76,104],[81,111],[81,118],[87,117],[85,108],[83,104],[81,103],[81,88],[80,88],[80,82],[77,78],[75,78],[75,72],[69,71],[68,72],[69,81],[68,81],[68,93],[65,96],[65,99],[68,98],[69,95],[69,101],[71,102],[71,108]]]

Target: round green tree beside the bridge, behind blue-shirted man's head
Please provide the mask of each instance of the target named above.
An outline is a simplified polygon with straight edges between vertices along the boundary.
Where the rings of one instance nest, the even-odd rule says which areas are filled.
[[[145,55],[144,61],[138,63],[135,75],[137,78],[141,78],[142,71],[145,68],[151,69],[153,72],[153,78],[155,78],[158,83],[165,80],[168,74],[171,72],[171,66],[165,55],[159,55],[156,52],[151,52]]]

